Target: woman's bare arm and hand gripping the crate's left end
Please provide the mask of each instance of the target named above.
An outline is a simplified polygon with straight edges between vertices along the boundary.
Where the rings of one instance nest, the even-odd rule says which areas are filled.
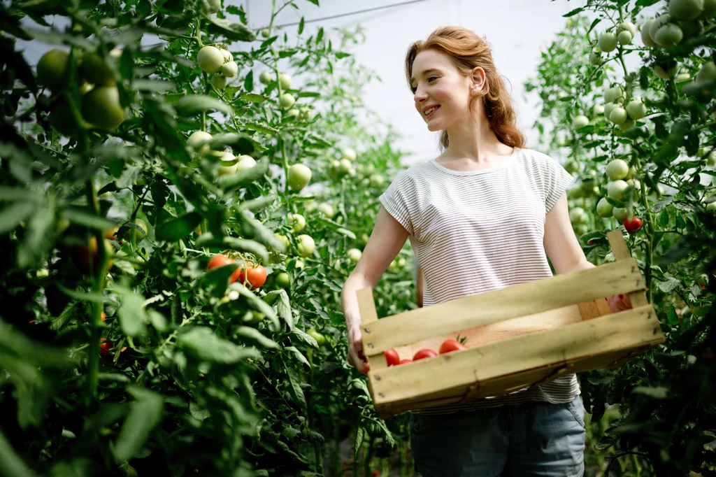
[[[375,288],[390,262],[402,249],[407,237],[405,227],[384,208],[380,208],[373,233],[368,239],[363,254],[343,284],[341,304],[348,328],[348,362],[360,372],[367,372],[369,367],[363,356],[356,291],[367,286]]]

